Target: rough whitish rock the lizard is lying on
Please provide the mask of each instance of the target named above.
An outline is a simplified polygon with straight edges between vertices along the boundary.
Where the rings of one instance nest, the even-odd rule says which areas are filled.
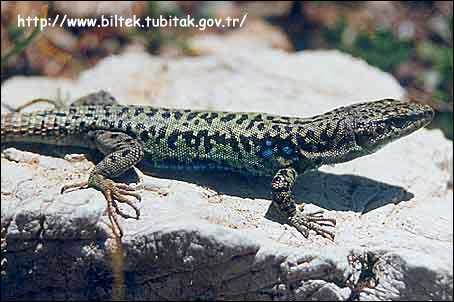
[[[199,58],[111,57],[75,81],[13,78],[2,106],[105,89],[125,104],[309,116],[404,93],[339,52],[216,45]],[[59,194],[93,164],[39,151],[2,155],[2,300],[110,299],[121,263],[110,258],[103,196]],[[337,218],[334,242],[305,239],[273,215],[268,178],[138,171],[141,219],[121,221],[125,298],[452,300],[451,165],[452,143],[424,129],[301,177],[297,198]]]

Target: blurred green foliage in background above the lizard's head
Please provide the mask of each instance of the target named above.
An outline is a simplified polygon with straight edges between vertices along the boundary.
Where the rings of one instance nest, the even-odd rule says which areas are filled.
[[[395,75],[401,64],[424,66],[426,71],[413,79],[409,86],[426,87],[429,78],[432,78],[432,81],[435,81],[432,98],[436,102],[449,103],[452,109],[453,16],[447,18],[446,22],[450,32],[445,35],[448,37],[445,43],[400,38],[387,29],[377,29],[372,33],[356,33],[349,27],[344,17],[339,18],[333,27],[326,29],[323,36],[329,47],[339,48]],[[452,139],[452,110],[437,114],[435,125],[441,127]]]

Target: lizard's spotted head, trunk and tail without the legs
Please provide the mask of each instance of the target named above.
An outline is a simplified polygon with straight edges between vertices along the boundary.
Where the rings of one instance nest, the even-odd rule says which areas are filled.
[[[380,100],[310,118],[265,113],[195,111],[148,106],[70,106],[2,115],[2,143],[37,142],[93,148],[90,131],[139,140],[156,168],[270,175],[345,162],[426,125],[428,106]]]

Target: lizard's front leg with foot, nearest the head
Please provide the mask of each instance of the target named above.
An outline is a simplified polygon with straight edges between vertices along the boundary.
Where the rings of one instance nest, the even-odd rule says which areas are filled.
[[[309,231],[314,230],[317,234],[334,240],[334,233],[326,230],[324,226],[335,226],[336,220],[323,217],[323,211],[303,213],[304,203],[297,207],[293,197],[293,187],[298,173],[293,168],[284,168],[277,171],[271,182],[273,203],[284,213],[288,221],[304,237],[309,236]]]

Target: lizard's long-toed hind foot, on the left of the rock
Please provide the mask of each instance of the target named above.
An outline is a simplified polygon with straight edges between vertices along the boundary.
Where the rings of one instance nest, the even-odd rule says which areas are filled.
[[[133,188],[127,184],[116,183],[110,179],[105,178],[102,175],[94,174],[90,176],[90,179],[88,181],[63,186],[62,193],[69,189],[78,190],[86,189],[89,187],[98,189],[104,194],[104,197],[107,201],[107,213],[112,224],[112,231],[114,232],[115,236],[118,236],[119,238],[123,237],[123,231],[120,227],[117,216],[134,219],[139,219],[140,217],[139,208],[127,197],[131,196],[140,201],[141,196],[140,194],[136,193],[136,188]],[[119,203],[127,204],[128,206],[130,206],[134,210],[135,215],[133,216],[125,213],[120,209]]]

